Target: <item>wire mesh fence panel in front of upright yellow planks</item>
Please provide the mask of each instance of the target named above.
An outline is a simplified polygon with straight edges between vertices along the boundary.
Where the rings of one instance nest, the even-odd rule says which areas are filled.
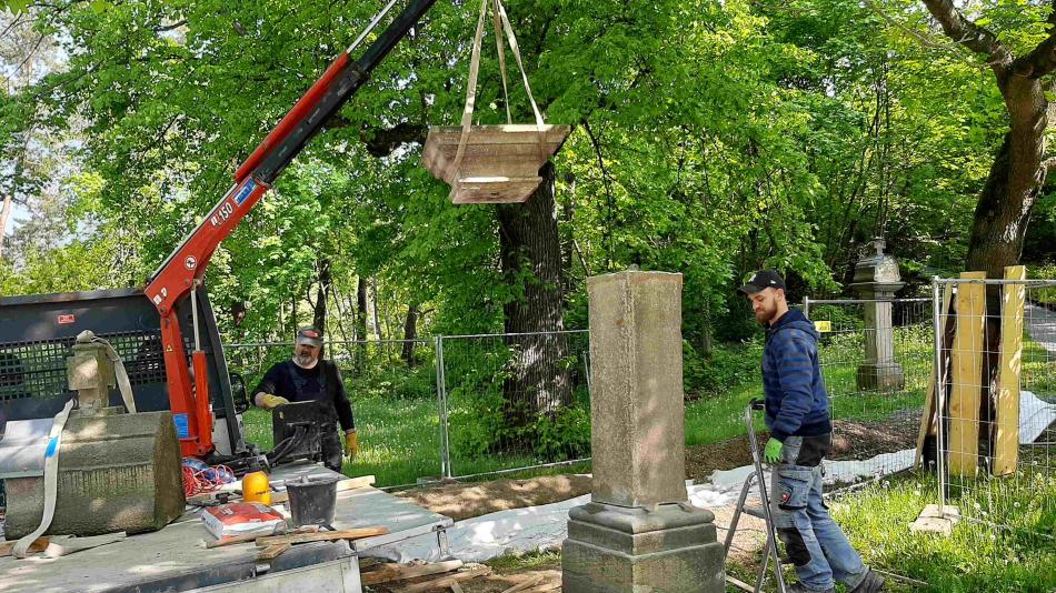
[[[936,280],[942,380],[928,402],[937,421],[927,423],[935,444],[925,459],[938,469],[937,502],[969,526],[1056,552],[1054,289],[1053,280],[982,274]]]

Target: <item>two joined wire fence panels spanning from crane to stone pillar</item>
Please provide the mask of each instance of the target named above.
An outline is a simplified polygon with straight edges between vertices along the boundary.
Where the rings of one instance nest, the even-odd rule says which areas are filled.
[[[257,342],[225,350],[251,398],[292,348]],[[362,444],[355,471],[375,473],[379,485],[589,462],[586,331],[328,341],[325,348],[353,402]],[[270,446],[270,423],[253,416],[248,440]]]

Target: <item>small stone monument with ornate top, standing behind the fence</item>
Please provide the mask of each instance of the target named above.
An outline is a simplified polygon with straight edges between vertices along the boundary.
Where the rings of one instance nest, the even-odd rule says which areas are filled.
[[[855,265],[850,284],[865,308],[865,362],[858,366],[858,389],[899,391],[906,385],[901,365],[895,362],[895,331],[891,326],[891,299],[906,285],[898,274],[898,262],[884,254],[887,243],[873,240],[876,253],[861,258]]]

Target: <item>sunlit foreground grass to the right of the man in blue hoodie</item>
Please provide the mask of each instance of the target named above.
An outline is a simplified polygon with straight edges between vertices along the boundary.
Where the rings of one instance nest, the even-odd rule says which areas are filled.
[[[1056,478],[980,480],[950,497],[966,516],[1009,529],[963,521],[949,537],[908,530],[927,504],[937,503],[934,475],[884,481],[846,495],[833,515],[865,561],[880,570],[930,583],[930,591],[1053,591],[1056,587]]]

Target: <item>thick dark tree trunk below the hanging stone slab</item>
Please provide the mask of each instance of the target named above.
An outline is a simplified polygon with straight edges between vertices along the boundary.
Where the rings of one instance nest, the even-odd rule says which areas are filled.
[[[562,364],[568,356],[561,310],[561,253],[555,211],[555,170],[539,171],[542,183],[524,204],[496,207],[502,277],[516,296],[504,305],[511,351],[504,381],[507,422],[531,423],[571,402],[571,381]]]

